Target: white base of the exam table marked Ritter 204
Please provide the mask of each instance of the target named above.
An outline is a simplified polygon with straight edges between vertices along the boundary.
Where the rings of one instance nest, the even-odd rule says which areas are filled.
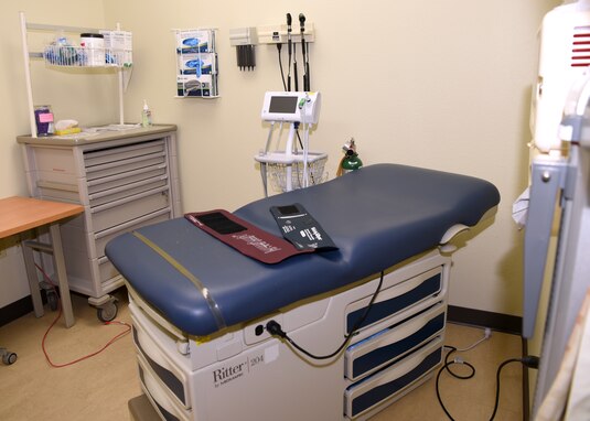
[[[368,304],[378,277],[294,303],[262,320],[233,326],[229,333],[201,338],[200,344],[163,321],[130,288],[129,306],[143,391],[161,411],[162,419],[367,419],[426,381],[441,361],[450,258],[431,251],[408,261],[386,273],[374,305],[407,294],[438,273],[440,288],[362,328],[351,344],[369,339],[328,361],[310,360],[266,332],[258,336],[256,326],[276,320],[299,345],[314,354],[329,354],[344,339],[346,315]],[[379,348],[406,338],[437,316],[442,317],[442,325],[436,332],[406,345],[407,349],[393,359],[357,376],[353,374],[352,364],[366,353],[365,348]],[[389,331],[374,336],[384,330]],[[412,374],[420,364],[426,367]],[[407,374],[410,379],[394,386],[390,393],[383,392],[385,397],[378,401],[357,400]]]

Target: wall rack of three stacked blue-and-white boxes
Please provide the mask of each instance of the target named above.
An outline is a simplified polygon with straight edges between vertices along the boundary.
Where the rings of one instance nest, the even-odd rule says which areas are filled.
[[[216,98],[215,29],[173,30],[176,48],[176,97]]]

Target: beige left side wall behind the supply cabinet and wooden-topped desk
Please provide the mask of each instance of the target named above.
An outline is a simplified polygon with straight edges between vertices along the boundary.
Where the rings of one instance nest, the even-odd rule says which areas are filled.
[[[6,197],[28,194],[22,152],[15,142],[18,134],[30,133],[19,11],[24,11],[26,19],[35,23],[98,28],[104,24],[105,15],[99,1],[3,1],[0,10],[0,197]],[[39,47],[52,37],[35,33],[29,41]],[[35,104],[51,104],[61,118],[75,116],[87,121],[108,118],[108,112],[96,116],[93,104],[105,108],[108,93],[116,93],[114,88],[105,88],[112,85],[110,82],[81,72],[47,72],[39,61],[32,64],[31,72]],[[0,240],[0,307],[29,294],[21,250],[14,242],[15,238]]]

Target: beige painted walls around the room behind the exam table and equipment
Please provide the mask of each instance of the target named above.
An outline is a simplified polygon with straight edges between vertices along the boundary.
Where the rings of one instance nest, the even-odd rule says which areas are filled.
[[[185,210],[232,210],[261,197],[253,155],[267,136],[259,118],[262,95],[281,89],[277,51],[257,46],[256,69],[239,72],[228,32],[282,23],[286,12],[294,17],[303,12],[317,32],[310,48],[312,89],[323,95],[311,145],[330,154],[330,175],[335,173],[341,145],[354,137],[365,164],[396,162],[493,182],[502,194],[497,216],[455,255],[450,300],[453,305],[521,314],[522,234],[512,223],[511,205],[527,182],[537,30],[543,15],[559,1],[20,3],[18,8],[2,6],[0,18],[4,57],[14,57],[4,60],[0,68],[0,86],[8,93],[0,100],[4,128],[1,195],[25,193],[13,140],[17,133],[28,131],[18,9],[25,10],[33,21],[73,25],[104,22],[107,28],[120,22],[122,29],[133,32],[135,69],[125,97],[126,115],[129,121],[139,121],[142,100],[147,99],[154,122],[179,126]],[[195,26],[218,29],[218,99],[173,98],[171,29]],[[66,87],[73,84],[68,79],[64,83]],[[62,104],[64,98],[72,100],[68,94],[67,89],[52,91],[46,100]],[[112,110],[95,105],[107,99],[98,94],[76,95],[75,109],[60,106],[72,115],[58,117],[83,122],[109,118]]]

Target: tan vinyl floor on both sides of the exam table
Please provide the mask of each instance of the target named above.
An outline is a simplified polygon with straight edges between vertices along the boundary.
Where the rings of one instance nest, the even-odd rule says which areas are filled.
[[[116,295],[117,321],[130,323],[125,291],[117,291]],[[99,323],[86,298],[73,294],[72,301],[76,324],[67,330],[62,317],[45,341],[47,354],[56,365],[95,353],[127,328]],[[41,319],[30,313],[0,327],[0,346],[18,354],[15,364],[0,364],[0,420],[129,420],[127,403],[141,393],[131,336],[122,336],[104,352],[77,364],[53,368],[45,359],[41,342],[56,315],[45,306]],[[449,324],[446,344],[465,348],[483,335],[480,328]],[[496,369],[503,360],[521,356],[521,338],[493,332],[489,339],[457,356],[473,365],[476,373],[469,380],[443,373],[442,401],[458,421],[489,420],[494,408]],[[468,373],[465,366],[451,368]],[[435,377],[372,420],[448,420],[437,400]],[[506,365],[495,420],[523,420],[522,402],[522,366]]]

